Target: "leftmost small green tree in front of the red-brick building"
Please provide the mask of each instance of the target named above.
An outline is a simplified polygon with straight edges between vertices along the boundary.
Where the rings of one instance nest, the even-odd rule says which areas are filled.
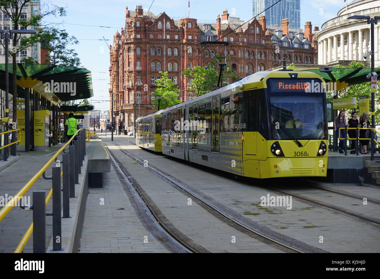
[[[176,87],[176,83],[172,82],[171,79],[169,79],[168,72],[160,71],[159,73],[161,75],[161,79],[156,80],[156,85],[163,87],[155,88],[155,93],[158,96],[161,96],[161,110],[179,104],[181,101],[178,99],[179,89]],[[154,99],[153,104],[156,106],[156,110],[158,110],[157,98]]]

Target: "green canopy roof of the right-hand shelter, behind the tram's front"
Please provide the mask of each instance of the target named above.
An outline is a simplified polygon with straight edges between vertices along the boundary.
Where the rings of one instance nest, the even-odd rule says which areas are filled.
[[[371,72],[370,68],[332,68],[331,72],[321,72],[320,69],[302,70],[318,74],[326,82],[339,81],[348,85],[361,84],[369,82],[367,74]],[[375,68],[375,72],[380,74],[380,68]]]

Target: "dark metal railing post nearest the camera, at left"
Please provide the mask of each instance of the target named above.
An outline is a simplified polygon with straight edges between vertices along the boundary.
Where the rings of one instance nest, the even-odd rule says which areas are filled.
[[[45,191],[33,191],[33,253],[46,253]]]

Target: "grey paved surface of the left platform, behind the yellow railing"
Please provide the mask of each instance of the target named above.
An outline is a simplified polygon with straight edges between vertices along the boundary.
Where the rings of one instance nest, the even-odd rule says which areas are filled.
[[[100,144],[99,144],[100,143]],[[55,145],[49,147],[48,151],[31,151],[31,152],[22,152],[20,156],[17,156],[18,160],[0,171],[0,197],[13,196],[16,194],[25,183],[35,175],[38,170],[43,167],[43,165],[51,158],[51,156],[57,152],[62,145]],[[101,147],[101,149],[99,148]],[[101,145],[101,142],[96,140],[91,140],[86,142],[86,152],[92,158],[98,158],[97,151],[101,150],[103,157],[106,157],[105,150]],[[66,148],[68,151],[68,148]],[[9,157],[11,158],[11,157]],[[62,153],[58,156],[60,161],[62,161]],[[46,175],[51,175],[51,167],[55,166],[55,163],[52,163],[51,166],[46,170]],[[82,172],[83,172],[82,167]],[[82,173],[84,175],[84,173]],[[80,179],[81,181],[81,179]],[[82,179],[84,181],[84,179]],[[33,191],[46,191],[50,190],[52,186],[51,180],[45,180],[41,176],[33,186],[26,192],[25,196],[30,197],[30,204],[33,204],[32,192]],[[76,189],[79,188],[76,184]],[[86,192],[87,194],[87,192]],[[87,195],[86,195],[87,197]],[[71,202],[71,201],[70,201]],[[70,214],[74,216],[76,214],[76,209],[70,207]],[[46,212],[52,212],[52,202],[50,201],[46,207]],[[24,235],[27,227],[30,225],[33,219],[32,210],[23,210],[19,207],[14,207],[8,215],[0,222],[0,252],[13,252],[14,248],[17,246],[22,236]],[[63,223],[62,223],[63,224]],[[46,217],[46,247],[48,247],[49,242],[51,241],[52,235],[52,218],[51,216]],[[80,224],[82,227],[82,223]],[[62,227],[62,231],[64,228]],[[33,234],[30,237],[27,245],[24,248],[24,252],[32,252],[33,247]]]

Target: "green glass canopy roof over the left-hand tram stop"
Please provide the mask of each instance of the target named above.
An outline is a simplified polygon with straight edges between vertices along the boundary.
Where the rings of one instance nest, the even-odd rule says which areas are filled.
[[[9,64],[9,93],[13,92],[12,64]],[[20,77],[31,77],[41,80],[43,83],[75,82],[76,94],[71,96],[70,92],[54,92],[61,101],[87,99],[93,96],[91,72],[84,68],[70,66],[44,65],[44,64],[17,64],[17,79]],[[5,90],[5,64],[0,64],[0,89]],[[73,85],[72,85],[72,88]],[[52,90],[53,91],[53,90]],[[17,97],[25,98],[25,90],[17,85]]]

